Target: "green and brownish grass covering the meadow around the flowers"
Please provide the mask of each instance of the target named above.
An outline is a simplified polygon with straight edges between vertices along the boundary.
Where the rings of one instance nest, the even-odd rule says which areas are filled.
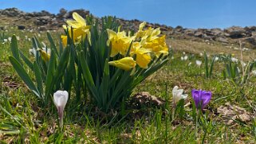
[[[33,37],[37,32],[21,31],[15,28],[8,29],[6,37],[15,33],[21,38],[19,48],[26,55],[32,42],[25,36]],[[55,39],[58,33],[51,32]],[[47,45],[46,33],[40,33],[39,41]],[[209,54],[234,53],[238,51],[227,49],[223,45],[207,45],[203,42],[187,40],[167,40],[174,48],[174,58],[149,76],[134,91],[148,91],[152,95],[162,97],[167,101],[165,107],[143,106],[138,109],[131,108],[126,103],[124,115],[115,113],[102,114],[85,100],[84,105],[73,107],[68,103],[65,108],[65,128],[60,133],[57,130],[57,111],[53,107],[42,110],[37,107],[37,99],[28,91],[26,85],[14,72],[8,56],[10,43],[0,43],[0,142],[2,143],[254,143],[256,139],[256,123],[254,121],[256,98],[255,76],[251,76],[245,87],[234,86],[230,80],[223,79],[223,65],[215,63],[213,76],[205,77],[204,64],[198,66],[195,60],[203,60],[206,50]],[[187,53],[188,60],[181,60],[183,51]],[[254,50],[244,53],[244,59],[254,57]],[[189,63],[192,63],[188,66]],[[255,69],[255,68],[254,68]],[[185,114],[183,119],[171,119],[171,91],[178,85],[189,94],[185,100]],[[193,110],[191,99],[192,89],[203,89],[213,92],[211,102],[200,120],[196,129],[193,123]],[[72,96],[72,95],[71,95]],[[241,119],[227,124],[229,118],[217,113],[217,109],[225,103],[243,107],[250,113],[250,121]],[[82,112],[81,112],[82,111]],[[207,116],[206,116],[207,115]],[[196,136],[197,135],[197,136]]]

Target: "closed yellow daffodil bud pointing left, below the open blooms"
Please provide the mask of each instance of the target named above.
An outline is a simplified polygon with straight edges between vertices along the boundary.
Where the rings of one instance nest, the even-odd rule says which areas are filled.
[[[132,57],[124,57],[120,60],[109,61],[108,64],[128,71],[131,68],[135,68],[136,61]]]

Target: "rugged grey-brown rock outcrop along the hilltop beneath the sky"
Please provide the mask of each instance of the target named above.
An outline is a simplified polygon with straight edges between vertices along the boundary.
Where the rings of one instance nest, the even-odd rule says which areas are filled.
[[[56,29],[65,24],[65,20],[72,18],[73,12],[77,12],[85,18],[90,14],[89,10],[72,10],[68,11],[61,9],[59,14],[50,14],[49,12],[42,10],[41,12],[26,13],[17,8],[10,8],[6,10],[0,10],[0,15],[7,17],[18,17],[25,20],[33,21],[39,30]],[[96,18],[96,17],[94,17]],[[124,20],[117,18],[124,29],[137,30],[142,21],[139,20]],[[191,39],[194,41],[217,41],[223,45],[238,44],[242,41],[247,47],[256,48],[256,26],[246,26],[244,28],[239,26],[232,26],[226,29],[185,29],[182,26],[176,26],[175,28],[167,25],[148,23],[148,27],[160,27],[163,34],[167,37]],[[26,29],[24,25],[19,25],[18,29]]]

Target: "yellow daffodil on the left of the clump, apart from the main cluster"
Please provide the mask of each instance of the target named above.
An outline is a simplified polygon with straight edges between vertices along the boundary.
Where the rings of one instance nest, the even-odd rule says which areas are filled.
[[[68,27],[63,25],[64,29],[69,29],[69,37],[72,37],[72,29],[73,28],[73,39],[74,42],[81,41],[82,37],[87,37],[89,44],[91,45],[91,33],[90,33],[90,26],[86,25],[86,21],[84,18],[82,18],[79,14],[76,12],[73,13],[73,20],[66,21],[68,24]],[[64,40],[67,40],[67,38],[63,37]],[[62,42],[64,41],[62,39]],[[65,45],[66,42],[63,42],[63,45]]]

